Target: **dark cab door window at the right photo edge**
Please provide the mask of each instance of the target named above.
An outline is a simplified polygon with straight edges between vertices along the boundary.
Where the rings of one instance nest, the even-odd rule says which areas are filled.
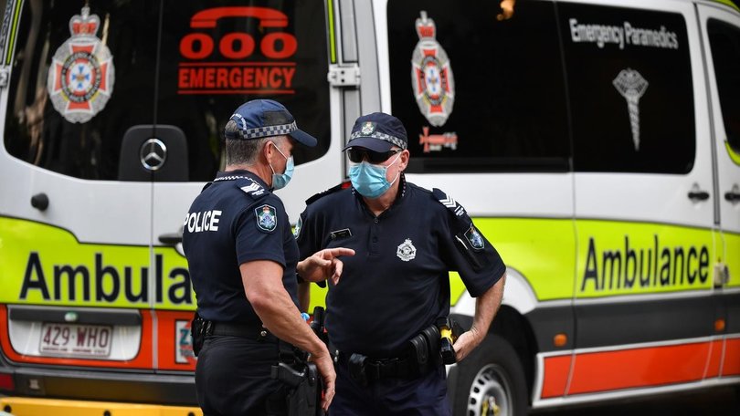
[[[724,132],[729,145],[740,152],[740,29],[715,19],[709,20],[707,29]]]

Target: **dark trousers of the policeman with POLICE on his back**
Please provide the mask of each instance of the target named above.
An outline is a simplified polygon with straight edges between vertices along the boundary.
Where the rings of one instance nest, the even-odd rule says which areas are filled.
[[[196,393],[204,416],[284,414],[288,390],[270,378],[278,344],[209,336],[198,354]]]

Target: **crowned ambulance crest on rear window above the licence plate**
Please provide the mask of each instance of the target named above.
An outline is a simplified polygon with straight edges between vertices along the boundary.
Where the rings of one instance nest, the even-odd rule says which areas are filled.
[[[69,19],[72,36],[51,58],[48,95],[54,109],[72,123],[90,121],[113,93],[113,57],[96,36],[99,28],[100,18],[82,7],[81,16]]]

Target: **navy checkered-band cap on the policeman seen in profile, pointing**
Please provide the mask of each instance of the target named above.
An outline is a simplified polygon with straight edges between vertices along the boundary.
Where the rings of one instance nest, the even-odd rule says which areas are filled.
[[[294,140],[313,147],[316,138],[300,130],[288,109],[272,99],[252,99],[242,104],[229,118],[237,123],[238,131],[226,132],[231,140],[251,140],[272,136],[291,136]]]

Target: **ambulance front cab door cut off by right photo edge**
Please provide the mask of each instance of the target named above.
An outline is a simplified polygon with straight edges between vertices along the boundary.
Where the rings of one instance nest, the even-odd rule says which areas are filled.
[[[720,301],[708,377],[740,376],[740,12],[721,5],[697,5],[709,74],[714,132],[714,192],[721,229],[714,288]],[[720,359],[721,357],[721,359]]]

